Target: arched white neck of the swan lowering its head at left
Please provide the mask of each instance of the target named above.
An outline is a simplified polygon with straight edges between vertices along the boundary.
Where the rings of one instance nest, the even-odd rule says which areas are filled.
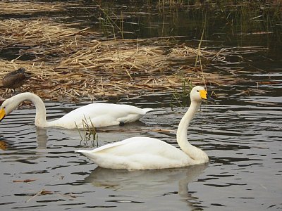
[[[46,121],[46,108],[44,102],[39,96],[32,93],[20,94],[20,101],[31,101],[35,105],[35,125],[37,127],[48,127],[49,122]]]

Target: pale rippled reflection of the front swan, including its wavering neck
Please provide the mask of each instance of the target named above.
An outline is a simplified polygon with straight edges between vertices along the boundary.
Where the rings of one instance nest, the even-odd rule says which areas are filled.
[[[188,184],[197,181],[208,165],[168,170],[107,170],[97,167],[85,178],[86,183],[94,187],[112,189],[116,194],[111,196],[112,202],[128,201],[130,203],[145,203],[148,198],[158,198],[159,209],[167,207],[162,200],[170,195],[180,196],[180,200],[191,205],[190,200],[198,199],[188,192]],[[104,200],[109,200],[110,196]]]

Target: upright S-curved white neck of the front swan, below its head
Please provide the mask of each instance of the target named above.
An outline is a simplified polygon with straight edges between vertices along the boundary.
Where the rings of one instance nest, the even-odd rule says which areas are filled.
[[[195,163],[204,163],[209,160],[207,154],[204,153],[204,151],[202,151],[200,148],[192,146],[192,144],[189,143],[187,137],[187,131],[190,121],[192,120],[192,117],[194,117],[195,113],[200,108],[200,106],[200,102],[191,102],[188,111],[182,117],[178,125],[176,133],[178,145],[180,146],[183,152],[185,152],[190,158],[192,158],[192,160],[195,160]]]

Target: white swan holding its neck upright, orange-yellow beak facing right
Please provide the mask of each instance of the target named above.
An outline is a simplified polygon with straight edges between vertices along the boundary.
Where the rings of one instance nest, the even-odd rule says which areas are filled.
[[[109,143],[94,150],[77,150],[99,167],[126,170],[157,170],[185,167],[209,162],[209,157],[200,148],[192,146],[187,139],[187,130],[192,117],[200,108],[202,99],[214,101],[200,86],[190,92],[191,104],[181,119],[176,137],[181,149],[170,144],[144,136]]]

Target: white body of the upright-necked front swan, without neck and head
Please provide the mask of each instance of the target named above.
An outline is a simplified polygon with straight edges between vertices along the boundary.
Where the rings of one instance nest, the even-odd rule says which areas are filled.
[[[78,150],[100,167],[128,170],[152,170],[191,165],[193,160],[170,144],[137,136],[110,143],[92,151]]]

